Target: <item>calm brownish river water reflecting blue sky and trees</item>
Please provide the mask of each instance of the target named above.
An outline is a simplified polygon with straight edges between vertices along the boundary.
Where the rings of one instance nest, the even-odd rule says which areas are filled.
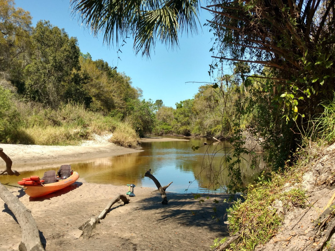
[[[90,183],[113,185],[133,183],[138,187],[155,187],[151,179],[144,177],[144,173],[151,169],[151,173],[162,186],[173,182],[167,191],[201,193],[209,189],[209,191],[225,192],[224,186],[229,180],[224,159],[231,151],[229,143],[220,142],[209,146],[212,141],[203,138],[187,139],[189,141],[146,142],[142,143],[143,152],[64,164],[71,164],[80,178]],[[204,146],[204,142],[208,145]],[[201,147],[193,151],[192,145]],[[264,162],[258,161],[256,168],[251,170],[250,157],[246,155],[243,158],[241,171],[247,185],[255,179],[255,174],[264,168]],[[58,168],[45,168],[21,172],[19,177],[3,177],[1,182],[14,184],[30,175],[43,177],[43,173],[50,169],[58,170]],[[136,188],[134,192],[136,194]]]

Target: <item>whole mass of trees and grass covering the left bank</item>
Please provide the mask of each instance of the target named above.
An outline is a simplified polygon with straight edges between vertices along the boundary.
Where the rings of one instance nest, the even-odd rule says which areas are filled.
[[[130,77],[80,52],[77,39],[49,21],[32,27],[13,0],[0,0],[0,47],[0,142],[69,144],[113,132],[117,121],[130,135],[152,131],[155,106]]]

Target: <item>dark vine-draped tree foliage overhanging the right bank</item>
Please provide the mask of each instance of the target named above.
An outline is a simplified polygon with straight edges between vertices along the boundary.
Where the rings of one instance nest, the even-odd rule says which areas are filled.
[[[240,109],[263,115],[252,121],[278,168],[310,131],[320,104],[333,98],[334,1],[215,0],[204,9],[214,16],[211,70],[223,62],[234,67],[233,85],[250,94]],[[236,67],[241,63],[250,68]]]

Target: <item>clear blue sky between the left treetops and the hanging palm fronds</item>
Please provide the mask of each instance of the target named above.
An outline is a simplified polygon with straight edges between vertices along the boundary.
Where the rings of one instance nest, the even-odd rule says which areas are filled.
[[[119,72],[132,79],[133,87],[142,89],[145,100],[161,99],[164,105],[176,108],[176,102],[193,98],[203,85],[186,82],[211,82],[208,70],[212,62],[209,52],[212,34],[202,26],[206,18],[211,19],[207,11],[200,13],[199,35],[181,37],[180,48],[172,51],[157,43],[155,52],[147,59],[135,56],[133,41],[128,40],[118,60],[118,49],[104,45],[102,37],[94,38],[77,17],[72,16],[69,6],[69,0],[15,0],[16,8],[30,12],[33,26],[39,20],[49,20],[53,26],[64,28],[70,37],[76,37],[82,53],[88,52],[93,60],[103,59],[117,66]]]

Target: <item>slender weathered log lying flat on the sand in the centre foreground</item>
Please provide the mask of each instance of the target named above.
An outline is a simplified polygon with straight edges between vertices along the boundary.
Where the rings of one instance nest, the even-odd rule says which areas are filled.
[[[129,199],[125,195],[119,194],[118,196],[116,196],[110,203],[107,204],[107,206],[99,214],[99,216],[88,219],[84,224],[79,227],[79,229],[82,230],[81,236],[89,238],[92,235],[93,229],[95,228],[96,224],[99,223],[100,219],[104,219],[106,217],[111,207],[119,200],[122,200],[124,204],[129,203]]]

